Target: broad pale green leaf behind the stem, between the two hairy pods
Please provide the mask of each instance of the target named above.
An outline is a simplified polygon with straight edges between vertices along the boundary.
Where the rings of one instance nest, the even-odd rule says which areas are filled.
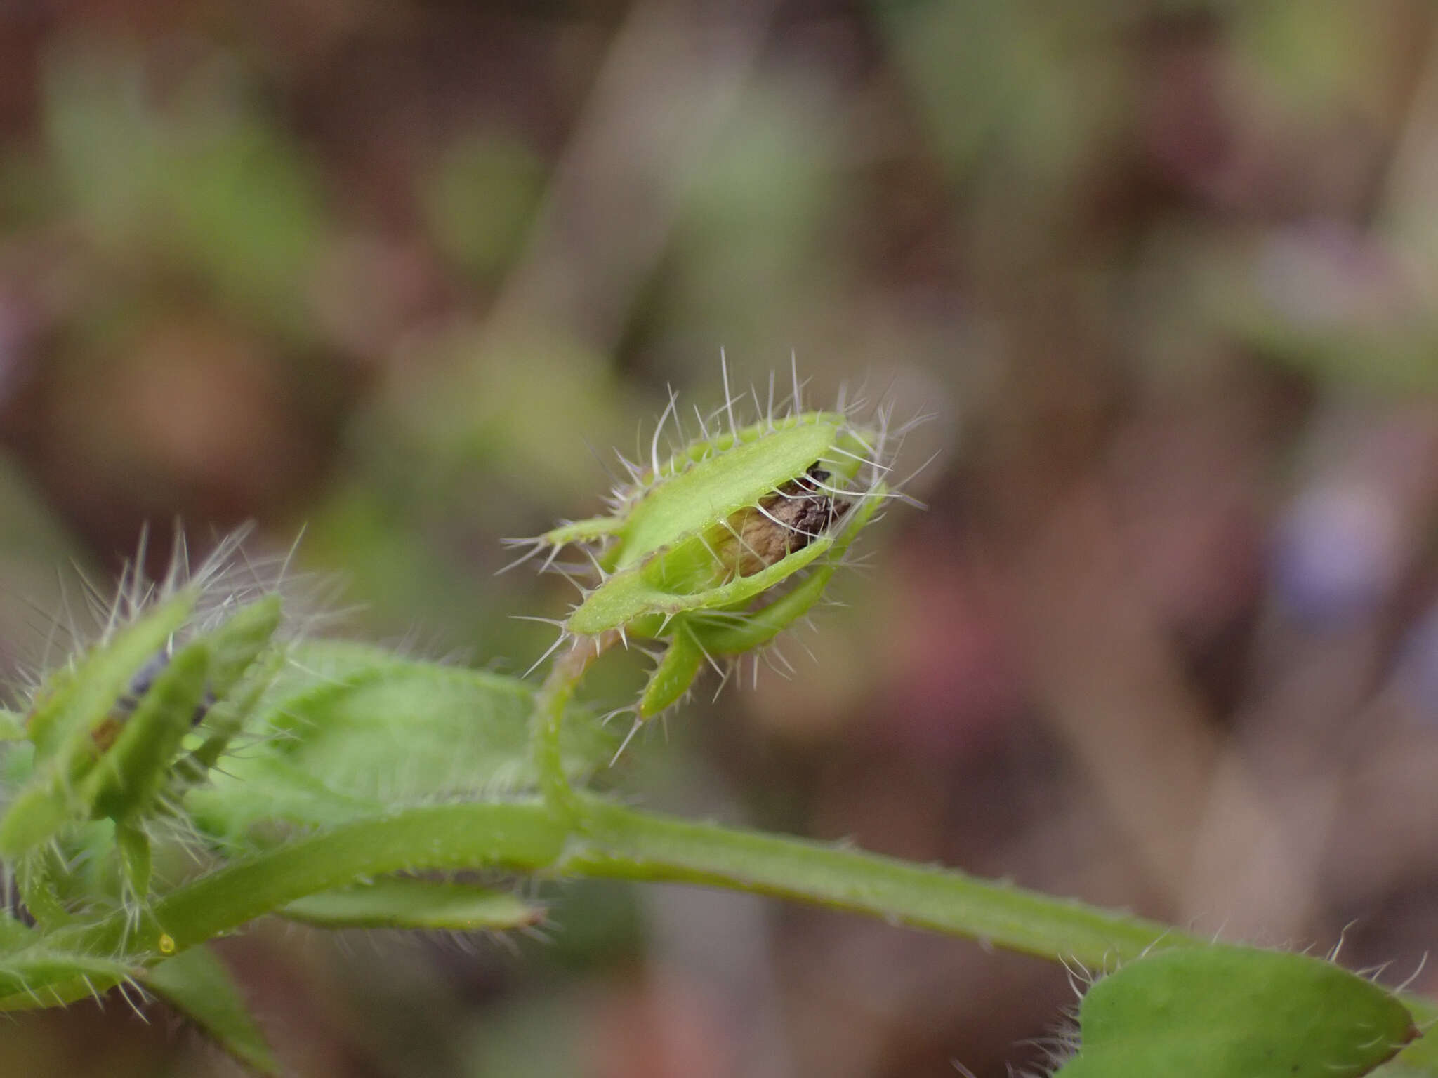
[[[361,644],[298,644],[256,709],[263,740],[187,805],[210,834],[265,845],[266,821],[329,826],[407,803],[513,796],[538,783],[532,709],[533,690],[516,678]],[[607,730],[569,723],[571,775],[613,750]]]

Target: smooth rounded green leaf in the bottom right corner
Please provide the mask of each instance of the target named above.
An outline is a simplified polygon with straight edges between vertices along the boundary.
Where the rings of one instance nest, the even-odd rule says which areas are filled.
[[[1055,1078],[1342,1078],[1416,1036],[1395,996],[1329,962],[1250,947],[1150,954],[1097,982]]]

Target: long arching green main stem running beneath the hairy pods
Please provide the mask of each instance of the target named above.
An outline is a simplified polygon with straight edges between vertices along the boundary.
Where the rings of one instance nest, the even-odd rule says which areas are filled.
[[[569,791],[572,805],[427,805],[357,821],[177,887],[139,921],[116,913],[47,933],[37,946],[122,954],[137,966],[239,929],[319,891],[398,871],[502,867],[522,872],[676,881],[772,894],[1103,967],[1155,944],[1199,943],[1155,921],[1051,898],[861,849],[695,824]],[[580,814],[580,822],[568,816]],[[164,941],[168,936],[168,941]],[[162,946],[164,943],[164,946]],[[23,953],[23,952],[22,952]],[[0,999],[0,1010],[92,995],[92,982]]]

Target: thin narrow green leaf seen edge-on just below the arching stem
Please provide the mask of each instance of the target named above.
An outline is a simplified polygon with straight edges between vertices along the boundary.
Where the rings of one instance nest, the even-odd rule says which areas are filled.
[[[321,929],[522,929],[544,910],[509,891],[469,884],[390,877],[322,891],[290,903],[280,914]]]

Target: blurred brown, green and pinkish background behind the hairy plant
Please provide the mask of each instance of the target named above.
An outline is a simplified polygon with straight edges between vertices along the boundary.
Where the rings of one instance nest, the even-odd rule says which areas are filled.
[[[666,385],[936,413],[795,673],[647,803],[1406,977],[1438,929],[1438,52],[1421,0],[0,0],[0,657],[152,522],[522,671],[499,539]],[[812,658],[805,654],[812,653]],[[633,668],[600,678],[623,700]],[[605,681],[604,678],[610,678]],[[608,694],[608,697],[605,697]],[[1047,963],[584,884],[541,937],[226,944],[305,1078],[1037,1067]],[[1346,930],[1346,931],[1345,931]],[[1438,990],[1421,973],[1415,990]],[[158,1006],[4,1075],[230,1075]]]

